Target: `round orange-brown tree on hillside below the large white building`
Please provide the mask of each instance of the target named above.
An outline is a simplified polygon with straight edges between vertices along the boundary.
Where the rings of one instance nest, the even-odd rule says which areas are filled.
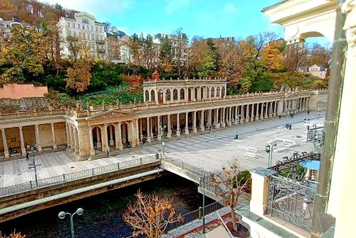
[[[67,69],[67,88],[77,93],[83,92],[90,85],[90,64],[85,61],[73,63],[73,67]]]

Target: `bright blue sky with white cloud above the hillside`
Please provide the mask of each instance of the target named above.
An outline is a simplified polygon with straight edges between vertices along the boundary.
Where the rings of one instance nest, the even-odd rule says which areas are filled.
[[[274,31],[283,38],[283,27],[270,24],[261,12],[281,0],[40,0],[77,11],[96,21],[109,21],[128,35],[172,33],[182,27],[192,36],[236,38]]]

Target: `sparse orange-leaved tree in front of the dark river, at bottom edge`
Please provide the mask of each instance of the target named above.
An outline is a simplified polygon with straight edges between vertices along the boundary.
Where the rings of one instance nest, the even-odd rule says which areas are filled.
[[[159,238],[169,224],[182,222],[182,216],[173,205],[173,199],[166,196],[145,195],[140,190],[135,195],[137,201],[130,204],[123,214],[127,224],[133,228],[132,236]]]

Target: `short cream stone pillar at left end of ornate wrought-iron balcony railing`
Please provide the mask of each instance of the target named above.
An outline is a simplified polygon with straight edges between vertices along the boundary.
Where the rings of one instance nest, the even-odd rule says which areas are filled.
[[[258,216],[267,213],[268,176],[275,174],[273,170],[257,167],[251,170],[252,191],[250,211]]]

